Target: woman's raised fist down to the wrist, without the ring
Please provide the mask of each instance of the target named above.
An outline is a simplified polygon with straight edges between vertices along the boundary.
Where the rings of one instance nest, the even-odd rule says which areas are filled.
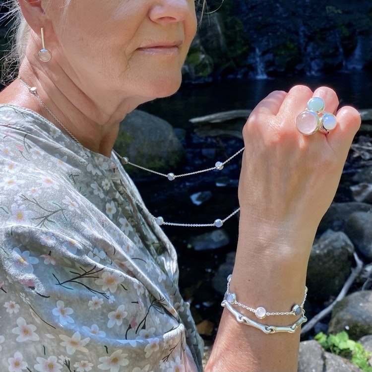
[[[251,233],[253,226],[260,234],[277,229],[287,236],[313,236],[329,207],[361,119],[354,108],[342,107],[334,130],[305,136],[295,121],[311,97],[322,98],[326,112],[336,112],[339,102],[332,89],[313,93],[295,86],[288,93],[272,92],[249,116],[243,129],[240,234],[245,226]]]

